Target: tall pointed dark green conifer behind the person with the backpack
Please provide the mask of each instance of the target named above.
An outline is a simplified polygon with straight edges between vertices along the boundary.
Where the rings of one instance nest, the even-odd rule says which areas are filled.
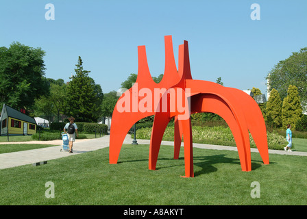
[[[101,116],[103,92],[95,81],[88,77],[90,71],[84,70],[79,56],[75,75],[66,88],[64,114],[73,116],[79,122],[97,122]]]

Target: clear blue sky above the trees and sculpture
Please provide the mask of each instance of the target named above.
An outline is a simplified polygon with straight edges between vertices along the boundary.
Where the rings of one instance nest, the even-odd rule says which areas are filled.
[[[45,19],[47,3],[54,20]],[[260,20],[251,20],[253,3]],[[138,72],[138,45],[146,46],[151,75],[164,73],[166,35],[176,62],[188,41],[193,79],[221,77],[224,86],[266,93],[274,65],[307,47],[307,1],[1,0],[0,31],[0,47],[42,48],[49,78],[69,81],[80,55],[104,93]]]

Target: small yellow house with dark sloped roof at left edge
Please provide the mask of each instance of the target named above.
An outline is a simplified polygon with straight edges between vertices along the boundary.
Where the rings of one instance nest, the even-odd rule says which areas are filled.
[[[34,118],[3,104],[0,119],[1,136],[27,136],[36,133]]]

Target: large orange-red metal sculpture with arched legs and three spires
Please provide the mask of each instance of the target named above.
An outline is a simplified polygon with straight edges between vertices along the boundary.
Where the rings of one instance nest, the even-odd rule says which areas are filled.
[[[171,36],[164,36],[165,68],[160,83],[151,78],[145,46],[138,47],[136,83],[117,101],[110,131],[110,164],[116,164],[123,140],[138,120],[154,115],[149,148],[149,169],[155,170],[164,131],[175,118],[174,159],[178,159],[184,136],[185,177],[194,177],[193,141],[190,115],[212,112],[230,127],[243,171],[251,170],[249,132],[264,164],[269,164],[267,131],[258,104],[248,94],[210,81],[193,80],[188,42],[179,46],[178,71]]]

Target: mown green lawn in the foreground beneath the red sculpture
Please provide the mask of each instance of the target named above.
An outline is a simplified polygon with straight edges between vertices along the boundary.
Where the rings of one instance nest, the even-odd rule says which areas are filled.
[[[306,205],[307,157],[270,155],[262,165],[251,153],[251,172],[241,171],[236,151],[193,149],[194,178],[184,175],[183,152],[161,146],[157,170],[148,170],[148,145],[123,145],[118,164],[108,148],[53,159],[43,166],[0,170],[0,205]],[[46,198],[45,183],[55,185]],[[251,198],[251,183],[260,198]]]

